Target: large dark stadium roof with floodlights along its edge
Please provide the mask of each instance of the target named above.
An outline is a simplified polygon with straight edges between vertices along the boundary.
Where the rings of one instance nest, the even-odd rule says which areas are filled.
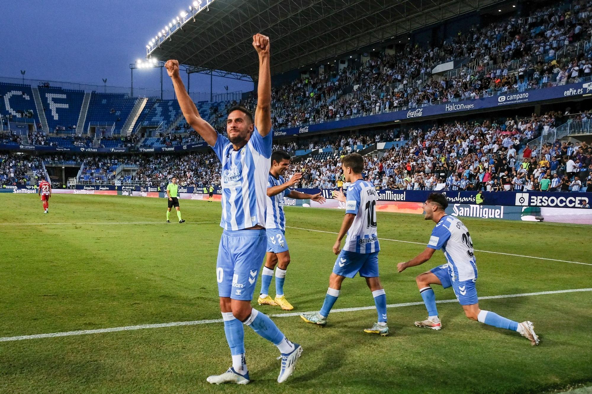
[[[201,0],[146,46],[189,72],[256,76],[255,33],[269,35],[272,75],[317,64],[501,0]]]

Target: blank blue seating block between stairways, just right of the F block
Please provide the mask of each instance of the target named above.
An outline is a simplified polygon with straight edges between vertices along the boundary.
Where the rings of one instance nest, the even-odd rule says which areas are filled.
[[[137,98],[124,94],[92,92],[84,124],[85,132],[91,124],[109,125],[108,130],[115,124],[113,133],[120,134],[136,101]]]

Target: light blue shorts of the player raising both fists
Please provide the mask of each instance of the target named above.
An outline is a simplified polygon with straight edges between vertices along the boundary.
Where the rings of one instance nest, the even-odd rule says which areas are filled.
[[[265,257],[265,230],[224,230],[218,247],[218,295],[251,301]]]

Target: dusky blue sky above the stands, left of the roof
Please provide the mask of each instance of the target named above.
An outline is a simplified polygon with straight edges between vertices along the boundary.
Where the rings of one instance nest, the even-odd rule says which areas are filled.
[[[130,86],[129,64],[189,0],[0,1],[0,76]],[[185,80],[185,75],[184,75]],[[164,89],[172,90],[165,73]],[[213,91],[251,91],[251,82],[214,78]],[[159,69],[134,70],[134,88],[160,92]],[[210,77],[193,74],[191,91],[210,93]]]

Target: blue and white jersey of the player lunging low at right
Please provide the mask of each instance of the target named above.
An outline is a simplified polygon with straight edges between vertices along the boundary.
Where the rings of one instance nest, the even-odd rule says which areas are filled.
[[[450,215],[443,216],[434,227],[427,247],[442,249],[453,281],[477,279],[473,241],[459,219]]]

